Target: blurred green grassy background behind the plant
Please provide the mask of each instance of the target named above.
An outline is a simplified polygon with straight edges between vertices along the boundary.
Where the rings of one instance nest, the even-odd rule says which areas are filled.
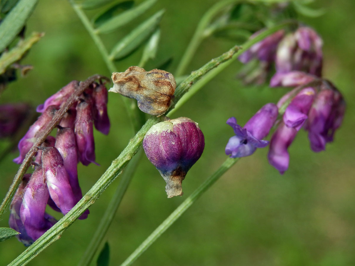
[[[146,69],[173,56],[169,70],[174,74],[198,21],[215,2],[160,0],[149,14],[105,37],[105,43],[111,47],[135,23],[165,8],[158,56]],[[334,82],[347,101],[345,119],[334,143],[328,144],[326,151],[313,153],[307,134],[300,131],[289,149],[290,167],[284,175],[268,164],[267,149],[240,160],[134,265],[355,265],[355,1],[318,0],[315,6],[327,12],[318,18],[300,19],[322,36],[324,77]],[[67,1],[39,1],[28,21],[27,33],[32,31],[45,32],[22,62],[34,69],[8,86],[0,104],[27,101],[37,106],[73,79],[84,80],[95,73],[111,75]],[[225,39],[208,38],[188,71],[233,45]],[[137,65],[142,50],[120,61],[118,70]],[[234,62],[174,114],[173,118],[187,116],[198,122],[206,141],[201,159],[183,182],[184,196],[167,199],[165,182],[143,156],[105,237],[110,245],[110,265],[126,259],[225,160],[224,147],[233,135],[225,124],[230,116],[244,124],[262,105],[277,102],[286,92],[245,87],[235,78],[240,66]],[[133,134],[120,97],[109,93],[110,134],[94,132],[101,166],[79,165],[83,192],[91,188]],[[0,142],[0,148],[6,145]],[[12,162],[16,156],[9,154],[0,164],[1,198],[17,171],[18,166]],[[76,221],[28,265],[76,265],[117,185],[118,180],[90,208],[88,219]],[[0,221],[0,227],[8,226],[8,215]],[[15,238],[0,243],[0,265],[7,265],[24,249]]]

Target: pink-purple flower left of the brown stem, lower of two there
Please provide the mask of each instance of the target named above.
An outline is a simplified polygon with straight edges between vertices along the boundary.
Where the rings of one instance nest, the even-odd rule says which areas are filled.
[[[51,105],[40,115],[36,122],[28,129],[27,133],[18,143],[20,156],[13,159],[16,164],[21,164],[28,151],[32,148],[33,143],[37,137],[43,132],[47,124],[52,120],[55,111],[58,110],[57,106]]]

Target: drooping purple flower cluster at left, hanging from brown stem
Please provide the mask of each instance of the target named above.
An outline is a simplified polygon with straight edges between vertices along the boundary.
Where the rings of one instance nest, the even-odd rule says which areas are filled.
[[[14,162],[21,164],[77,85],[77,81],[72,81],[37,107],[42,115],[20,140],[20,156]],[[93,124],[108,134],[107,96],[104,84],[92,83],[62,117],[56,137],[48,136],[38,147],[33,162],[35,170],[32,175],[24,176],[10,206],[10,227],[21,233],[18,239],[25,245],[33,243],[56,222],[45,212],[47,204],[65,215],[82,198],[77,165],[79,161],[83,165],[96,164]],[[86,210],[79,219],[87,218],[88,214]]]

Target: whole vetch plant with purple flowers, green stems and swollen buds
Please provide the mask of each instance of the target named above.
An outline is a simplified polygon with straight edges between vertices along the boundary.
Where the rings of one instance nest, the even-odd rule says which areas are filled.
[[[154,61],[159,51],[159,40],[163,38],[159,23],[164,10],[138,24],[119,39],[111,51],[108,51],[101,37],[102,34],[117,31],[132,23],[149,9],[153,9],[156,0],[146,0],[138,5],[133,5],[132,1],[109,2],[70,0],[73,10],[97,45],[108,71],[102,70],[104,76],[94,75],[82,82],[71,81],[58,92],[48,95],[48,99],[37,106],[39,117],[18,142],[19,156],[13,161],[20,164],[20,168],[2,201],[0,217],[6,217],[4,215],[10,209],[9,226],[20,233],[16,235],[17,239],[28,248],[9,265],[26,265],[58,240],[77,219],[90,219],[93,214],[89,215],[88,208],[117,177],[122,176],[117,191],[108,203],[107,210],[79,262],[79,265],[89,265],[140,163],[142,147],[148,160],[166,182],[168,198],[180,195],[184,201],[122,265],[132,264],[240,157],[251,156],[257,153],[257,148],[268,146],[269,163],[283,174],[289,168],[288,148],[302,128],[308,132],[312,151],[319,152],[325,150],[326,143],[334,140],[335,131],[342,124],[345,112],[343,95],[322,76],[323,41],[314,29],[295,20],[292,15],[296,12],[307,13],[304,10],[308,7],[304,4],[293,1],[282,1],[281,4],[273,1],[220,1],[202,17],[177,69],[168,72],[166,69],[169,66],[160,64],[159,67]],[[18,29],[24,26],[35,1],[9,1],[8,5],[0,6],[4,13],[0,35],[6,35],[8,39],[0,40],[0,47],[3,48],[0,64],[2,56],[8,50],[16,48],[15,52],[20,53],[17,46],[11,46],[11,41],[22,38]],[[90,20],[85,10],[101,6],[104,6],[101,12]],[[293,12],[286,12],[288,9]],[[14,20],[14,14],[21,18],[21,23],[17,23],[16,32],[9,34],[9,23]],[[236,37],[232,38],[235,43],[233,48],[182,76],[187,73],[186,68],[203,40],[213,36],[230,37],[231,33]],[[28,45],[27,50],[31,45]],[[139,51],[141,45],[145,45],[143,54],[140,63],[135,66],[137,63],[130,55],[137,49]],[[21,56],[16,57],[17,61],[22,59],[23,54],[22,49]],[[132,60],[132,63],[124,68],[117,67],[118,61],[124,58]],[[260,110],[243,127],[237,124],[237,120],[242,119],[237,106],[233,113],[222,117],[221,121],[225,121],[238,113],[237,118],[232,116],[227,120],[234,135],[221,136],[226,140],[226,146],[219,147],[219,150],[223,153],[224,149],[226,160],[194,192],[183,195],[182,181],[190,168],[200,163],[198,160],[204,156],[205,141],[207,146],[211,142],[211,136],[209,133],[204,135],[200,129],[200,126],[203,129],[207,125],[194,122],[188,118],[188,113],[184,113],[182,117],[172,117],[204,84],[232,62],[237,62],[237,59],[246,65],[239,74],[245,84],[269,84],[271,88],[267,88],[268,90],[276,90],[274,87],[293,89],[285,92],[277,103],[265,100],[268,103],[258,107]],[[148,64],[154,64],[154,67],[145,66]],[[8,71],[13,70],[11,64],[4,66]],[[120,72],[124,69],[126,71]],[[9,72],[6,75],[9,77]],[[109,79],[106,76],[111,76],[113,85],[107,84]],[[233,79],[234,77],[230,77],[230,80]],[[8,81],[3,83],[4,88]],[[109,91],[107,85],[112,86]],[[224,84],[220,84],[219,93],[221,97],[228,97],[228,92],[224,92],[223,87]],[[108,92],[118,94],[109,95]],[[116,159],[112,158],[111,165],[96,183],[87,192],[83,192],[79,180],[81,183],[84,179],[78,172],[78,163],[81,162],[84,166],[91,163],[98,165],[95,146],[100,143],[95,142],[94,127],[105,135],[110,132],[113,121],[110,121],[108,113],[109,96],[118,97],[124,102],[126,114],[122,116],[129,117],[135,135]],[[255,95],[255,99],[257,97]],[[13,119],[4,122],[0,120],[0,126],[4,128],[0,137],[13,134],[23,123],[26,113],[23,109],[22,105],[2,105],[1,116],[6,112]],[[224,122],[216,125],[223,126]],[[116,135],[115,140],[109,139],[110,135],[105,138],[110,142],[120,139],[120,136]],[[215,152],[216,156],[218,152]],[[33,171],[30,169],[31,165]],[[191,174],[189,178],[193,179],[194,176]],[[60,212],[60,216],[55,212],[50,215],[47,212],[49,209],[46,210],[47,205]],[[58,221],[56,217],[60,217]],[[0,235],[0,239],[2,238],[7,237]],[[108,264],[109,250],[113,249],[105,244],[98,264],[103,261],[102,265]]]

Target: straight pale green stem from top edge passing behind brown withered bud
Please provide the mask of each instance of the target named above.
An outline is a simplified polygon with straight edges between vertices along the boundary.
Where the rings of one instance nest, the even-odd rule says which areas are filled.
[[[114,62],[110,59],[110,56],[108,54],[108,51],[107,51],[103,41],[99,37],[97,31],[95,31],[95,29],[93,28],[91,22],[89,21],[88,17],[85,15],[84,11],[81,9],[80,5],[76,4],[73,0],[70,0],[70,4],[72,5],[73,10],[76,12],[77,16],[80,18],[84,27],[86,28],[86,30],[90,34],[91,38],[93,39],[94,43],[96,44],[96,46],[97,46],[98,50],[100,51],[102,58],[104,59],[106,66],[107,66],[108,70],[110,71],[110,73],[119,72],[119,71],[117,71],[117,68],[116,68]],[[145,122],[144,113],[142,113],[138,109],[138,106],[136,104],[136,100],[129,99],[126,97],[121,97],[121,98],[125,104],[128,116],[129,116],[132,126],[134,128],[134,131],[137,132],[141,128],[142,124],[144,124],[144,122]]]

